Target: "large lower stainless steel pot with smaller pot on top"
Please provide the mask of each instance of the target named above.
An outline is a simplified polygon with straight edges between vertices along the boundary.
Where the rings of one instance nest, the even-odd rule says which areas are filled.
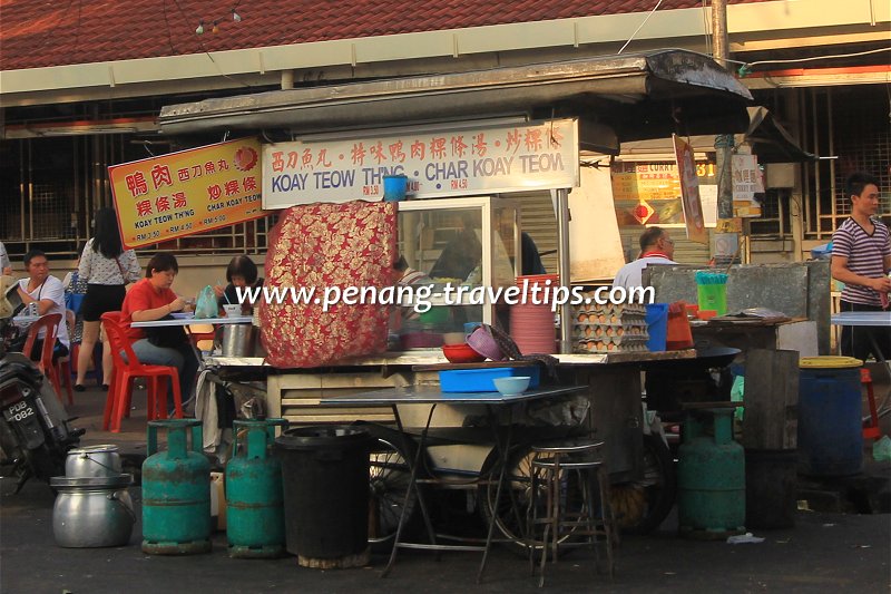
[[[50,485],[59,491],[52,508],[56,544],[72,548],[128,544],[136,523],[127,493],[133,475],[50,479]]]

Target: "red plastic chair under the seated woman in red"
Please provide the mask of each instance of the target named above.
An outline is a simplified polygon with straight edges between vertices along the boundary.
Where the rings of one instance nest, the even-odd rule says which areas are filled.
[[[124,328],[120,325],[120,312],[102,314],[102,327],[111,344],[114,361],[114,381],[109,386],[102,415],[102,429],[120,432],[120,421],[129,412],[133,397],[133,380],[146,378],[146,418],[155,420],[167,418],[167,382],[173,382],[175,416],[183,418],[183,395],[179,391],[179,372],[175,367],[140,363],[130,347]],[[124,353],[124,354],[121,354]],[[126,356],[126,360],[124,357]]]

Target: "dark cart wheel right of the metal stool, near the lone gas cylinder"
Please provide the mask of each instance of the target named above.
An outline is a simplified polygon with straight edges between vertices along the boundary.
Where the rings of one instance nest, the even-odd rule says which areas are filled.
[[[610,506],[621,532],[649,534],[668,517],[677,499],[675,460],[657,435],[644,436],[644,476],[611,486]]]

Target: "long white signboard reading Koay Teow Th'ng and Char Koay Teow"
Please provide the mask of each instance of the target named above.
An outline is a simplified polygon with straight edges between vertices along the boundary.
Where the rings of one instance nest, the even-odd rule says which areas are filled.
[[[263,207],[374,201],[386,175],[408,196],[435,198],[578,186],[578,121],[382,130],[263,148]]]

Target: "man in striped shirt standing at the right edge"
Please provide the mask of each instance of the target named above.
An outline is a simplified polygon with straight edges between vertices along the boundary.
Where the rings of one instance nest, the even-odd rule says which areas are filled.
[[[879,212],[879,181],[855,173],[848,178],[845,192],[851,199],[851,218],[832,235],[832,277],[844,283],[841,310],[882,311],[891,293],[891,238],[888,226],[872,218]],[[891,330],[842,328],[842,354],[865,360],[875,348],[885,359],[891,358]],[[879,353],[872,354],[879,358]]]

